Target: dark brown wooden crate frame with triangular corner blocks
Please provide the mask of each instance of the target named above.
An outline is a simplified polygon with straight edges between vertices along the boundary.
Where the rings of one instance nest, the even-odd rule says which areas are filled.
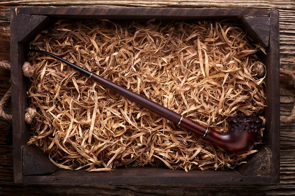
[[[22,65],[26,48],[42,29],[58,18],[105,19],[238,19],[253,42],[266,47],[266,131],[264,144],[235,170],[169,170],[144,167],[112,172],[57,169],[39,148],[27,146],[29,126],[27,79]],[[268,9],[148,8],[148,7],[20,7],[11,8],[11,87],[14,181],[23,184],[270,184],[279,182],[279,13]]]

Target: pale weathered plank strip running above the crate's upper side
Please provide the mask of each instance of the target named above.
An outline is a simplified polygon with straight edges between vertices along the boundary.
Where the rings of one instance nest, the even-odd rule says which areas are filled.
[[[0,5],[133,5],[295,9],[294,0],[2,0]]]

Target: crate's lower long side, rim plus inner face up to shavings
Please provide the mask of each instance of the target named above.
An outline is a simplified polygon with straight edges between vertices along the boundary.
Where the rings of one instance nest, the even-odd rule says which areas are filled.
[[[219,173],[220,175],[216,175]],[[271,176],[241,176],[235,170],[172,171],[165,168],[119,168],[112,172],[67,171],[59,169],[54,174],[24,176],[24,184],[269,184]]]

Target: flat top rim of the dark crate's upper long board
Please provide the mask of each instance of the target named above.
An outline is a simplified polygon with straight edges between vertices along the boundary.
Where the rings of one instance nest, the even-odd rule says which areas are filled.
[[[177,8],[177,7],[126,7],[126,6],[60,6],[60,7],[18,7],[17,14],[48,15],[48,16],[88,16],[88,17],[239,17],[239,16],[270,16],[270,9],[255,8]],[[152,17],[151,17],[152,16]]]

